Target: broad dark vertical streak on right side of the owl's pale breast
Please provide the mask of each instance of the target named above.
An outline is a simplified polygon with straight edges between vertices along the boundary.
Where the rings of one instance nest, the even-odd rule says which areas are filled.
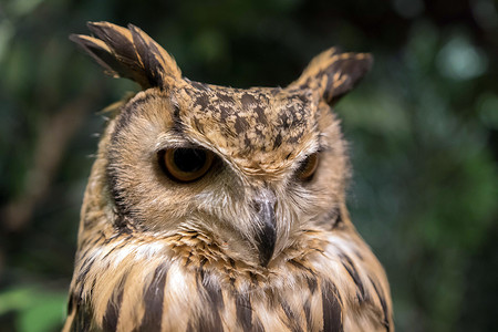
[[[341,299],[334,284],[322,284],[323,332],[344,331],[340,301]]]

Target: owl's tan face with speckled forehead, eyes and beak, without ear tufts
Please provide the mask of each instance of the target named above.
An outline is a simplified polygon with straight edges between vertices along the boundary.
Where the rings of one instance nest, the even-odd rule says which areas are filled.
[[[110,135],[111,196],[144,232],[207,234],[267,264],[304,229],[330,224],[340,203],[338,122],[310,90],[153,87],[123,107]]]

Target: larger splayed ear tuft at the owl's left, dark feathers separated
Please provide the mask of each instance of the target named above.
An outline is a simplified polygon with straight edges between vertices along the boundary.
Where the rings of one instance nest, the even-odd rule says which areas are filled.
[[[82,46],[105,72],[126,77],[143,89],[165,87],[181,79],[175,60],[144,31],[129,24],[128,29],[108,22],[89,22],[95,37],[72,34],[70,39]]]

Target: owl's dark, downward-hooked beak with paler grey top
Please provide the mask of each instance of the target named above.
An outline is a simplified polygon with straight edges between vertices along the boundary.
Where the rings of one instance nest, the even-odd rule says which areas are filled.
[[[273,256],[274,243],[277,241],[277,229],[274,218],[274,205],[276,198],[264,197],[262,199],[256,199],[253,207],[258,215],[260,228],[256,235],[259,261],[262,267],[268,266],[271,257]]]

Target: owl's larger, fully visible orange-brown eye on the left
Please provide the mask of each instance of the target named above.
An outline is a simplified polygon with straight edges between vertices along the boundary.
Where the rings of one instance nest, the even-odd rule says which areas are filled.
[[[203,148],[168,148],[159,154],[159,164],[174,180],[190,183],[205,175],[214,154]]]

